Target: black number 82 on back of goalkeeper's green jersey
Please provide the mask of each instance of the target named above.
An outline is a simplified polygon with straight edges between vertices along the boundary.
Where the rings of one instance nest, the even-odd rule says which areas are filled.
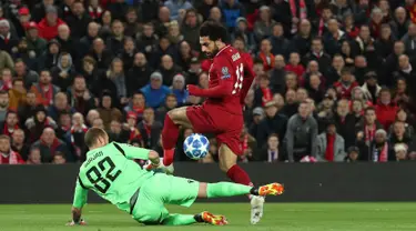
[[[92,167],[87,171],[88,180],[94,185],[94,188],[100,191],[101,193],[105,193],[106,190],[110,189],[111,182],[113,182],[121,173],[121,170],[115,172],[115,164],[111,160],[111,158],[106,157],[102,159],[97,168],[95,165]],[[105,171],[105,172],[104,172]]]

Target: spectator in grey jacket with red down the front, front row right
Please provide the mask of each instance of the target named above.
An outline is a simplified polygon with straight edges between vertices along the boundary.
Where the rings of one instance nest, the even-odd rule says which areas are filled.
[[[336,123],[328,121],[326,132],[317,135],[316,159],[321,162],[343,162],[345,159],[344,138],[336,132]]]

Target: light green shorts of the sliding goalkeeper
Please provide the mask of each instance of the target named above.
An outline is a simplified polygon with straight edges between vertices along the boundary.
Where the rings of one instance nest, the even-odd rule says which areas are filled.
[[[144,224],[160,224],[169,215],[164,204],[191,207],[199,189],[199,181],[156,173],[140,188],[133,219]]]

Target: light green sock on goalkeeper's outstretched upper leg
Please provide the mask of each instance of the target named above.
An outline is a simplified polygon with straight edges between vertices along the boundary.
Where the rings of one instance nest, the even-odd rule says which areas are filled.
[[[209,183],[206,185],[207,198],[221,198],[221,197],[233,197],[250,194],[253,187],[231,183],[231,182],[217,182]]]

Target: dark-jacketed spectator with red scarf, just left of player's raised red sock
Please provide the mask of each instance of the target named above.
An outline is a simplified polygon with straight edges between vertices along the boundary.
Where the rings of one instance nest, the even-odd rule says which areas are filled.
[[[152,108],[144,109],[143,120],[138,124],[144,148],[153,149],[156,147],[162,127],[162,123],[154,120],[154,110]]]

